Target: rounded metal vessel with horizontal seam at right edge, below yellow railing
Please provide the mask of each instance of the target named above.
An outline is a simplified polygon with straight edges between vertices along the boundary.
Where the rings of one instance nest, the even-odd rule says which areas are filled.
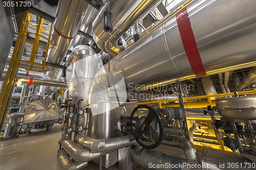
[[[256,119],[256,97],[242,96],[237,98],[217,99],[216,109],[221,116],[230,119]]]

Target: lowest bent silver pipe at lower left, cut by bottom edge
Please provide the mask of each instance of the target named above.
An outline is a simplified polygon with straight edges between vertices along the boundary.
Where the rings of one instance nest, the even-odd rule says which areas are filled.
[[[72,162],[63,149],[58,150],[57,161],[63,170],[80,170],[86,168],[88,165],[88,162]]]

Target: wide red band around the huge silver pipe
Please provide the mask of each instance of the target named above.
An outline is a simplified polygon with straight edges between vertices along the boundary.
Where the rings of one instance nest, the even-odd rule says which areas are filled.
[[[197,42],[191,28],[186,7],[177,12],[176,19],[180,31],[181,41],[194,74],[197,77],[207,76],[198,50]]]

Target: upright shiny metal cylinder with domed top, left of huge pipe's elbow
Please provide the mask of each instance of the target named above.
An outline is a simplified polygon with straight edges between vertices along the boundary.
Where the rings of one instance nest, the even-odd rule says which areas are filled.
[[[70,58],[73,59],[73,70],[69,84],[69,94],[72,102],[83,99],[81,107],[88,104],[88,95],[92,81],[102,65],[100,56],[87,45],[78,45],[74,48]],[[69,81],[67,79],[67,81]]]

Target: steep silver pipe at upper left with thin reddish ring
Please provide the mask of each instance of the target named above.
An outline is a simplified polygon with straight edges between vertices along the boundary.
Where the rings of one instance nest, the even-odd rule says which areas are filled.
[[[92,6],[86,1],[59,1],[51,38],[53,48],[47,58],[48,62],[61,63],[63,57],[68,52],[70,44],[77,35],[81,22],[84,18],[93,18],[93,15],[95,15],[94,10],[92,10]],[[50,69],[51,71],[47,72],[47,75],[52,79],[56,79],[59,69]]]

